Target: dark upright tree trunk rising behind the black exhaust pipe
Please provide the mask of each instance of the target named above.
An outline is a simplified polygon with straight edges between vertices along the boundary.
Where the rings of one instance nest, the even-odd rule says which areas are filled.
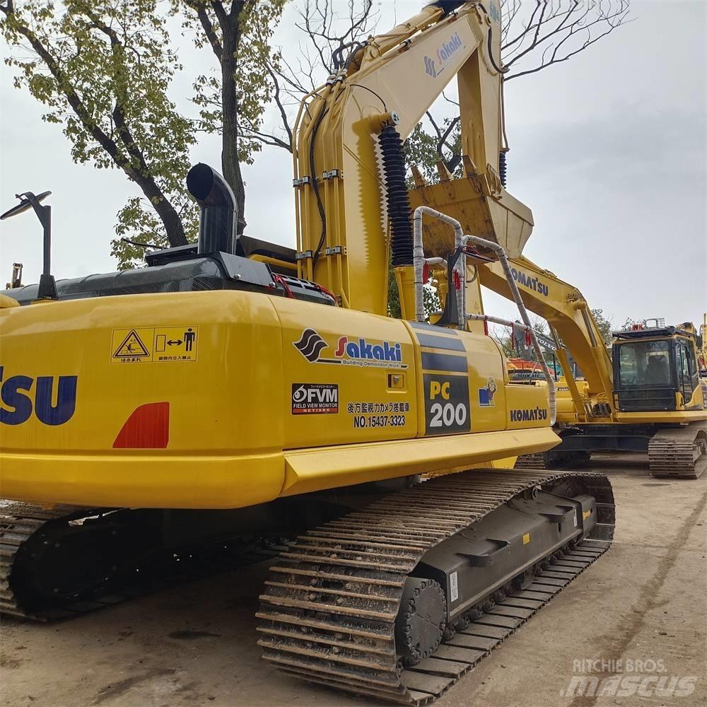
[[[234,3],[235,6],[235,3]],[[221,57],[221,99],[223,101],[223,135],[221,148],[221,168],[223,177],[235,194],[238,204],[238,235],[245,228],[245,188],[243,175],[240,173],[238,159],[238,97],[235,86],[235,70],[238,66],[238,43],[240,26],[238,11],[235,9],[228,16],[227,23],[222,23],[223,55]]]

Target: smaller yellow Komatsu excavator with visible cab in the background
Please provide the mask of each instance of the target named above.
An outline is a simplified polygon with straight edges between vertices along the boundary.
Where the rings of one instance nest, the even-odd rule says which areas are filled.
[[[613,332],[609,355],[577,288],[525,257],[511,268],[527,308],[549,323],[565,389],[558,391],[556,418],[562,443],[518,464],[561,468],[588,461],[592,452],[642,451],[654,477],[699,477],[707,468],[707,407],[694,325],[656,320]],[[477,272],[483,286],[513,297],[500,264],[481,263]]]

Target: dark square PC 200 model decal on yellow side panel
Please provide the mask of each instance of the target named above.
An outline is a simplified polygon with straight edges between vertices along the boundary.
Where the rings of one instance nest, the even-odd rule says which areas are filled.
[[[465,375],[423,375],[425,390],[425,426],[428,435],[468,432],[469,379]]]

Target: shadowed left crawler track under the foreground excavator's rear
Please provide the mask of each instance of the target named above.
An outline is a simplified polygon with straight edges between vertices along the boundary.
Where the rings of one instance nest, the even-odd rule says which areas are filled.
[[[234,538],[205,542],[197,547],[150,551],[138,554],[114,576],[69,600],[47,603],[29,600],[16,579],[17,572],[13,575],[18,558],[36,554],[39,545],[61,543],[67,525],[100,518],[103,512],[105,509],[74,506],[47,510],[28,503],[0,508],[0,613],[35,621],[71,619],[185,581],[272,559],[286,547],[264,540],[243,544]],[[76,563],[82,559],[77,557]],[[54,571],[57,583],[61,583],[61,563],[54,564]],[[45,577],[42,580],[49,581]]]

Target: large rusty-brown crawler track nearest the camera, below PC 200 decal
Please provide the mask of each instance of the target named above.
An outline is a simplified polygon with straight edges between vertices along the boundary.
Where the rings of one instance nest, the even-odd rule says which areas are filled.
[[[597,500],[590,539],[530,586],[402,669],[395,619],[407,575],[428,549],[511,498],[572,479]],[[271,567],[258,630],[263,658],[288,675],[378,699],[433,701],[604,553],[614,497],[602,474],[472,470],[436,477],[300,536]]]

